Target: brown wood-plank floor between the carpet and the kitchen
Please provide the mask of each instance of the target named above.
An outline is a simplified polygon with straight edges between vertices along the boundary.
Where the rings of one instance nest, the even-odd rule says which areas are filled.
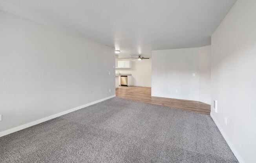
[[[129,100],[136,100],[175,109],[183,109],[202,114],[210,114],[210,105],[206,103],[173,98],[153,97],[151,96],[151,87],[119,87],[115,89],[115,95]]]

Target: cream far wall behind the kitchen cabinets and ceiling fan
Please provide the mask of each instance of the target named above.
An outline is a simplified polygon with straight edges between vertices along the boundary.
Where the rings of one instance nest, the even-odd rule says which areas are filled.
[[[130,59],[117,59],[117,60],[130,60]],[[130,69],[115,69],[115,72],[118,71],[121,74],[132,74],[132,83],[135,86],[141,87],[151,87],[151,69],[152,61],[150,59],[144,60],[130,60],[131,68]]]

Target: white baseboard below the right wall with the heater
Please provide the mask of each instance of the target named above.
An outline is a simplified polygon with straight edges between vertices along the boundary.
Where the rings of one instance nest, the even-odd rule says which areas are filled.
[[[245,163],[245,161],[243,161],[243,159],[241,158],[240,154],[238,153],[238,151],[235,149],[234,145],[231,143],[230,139],[227,137],[227,135],[225,134],[224,130],[221,128],[221,126],[219,125],[218,121],[214,118],[214,116],[212,115],[212,112],[210,113],[210,116],[212,117],[212,120],[214,121],[214,123],[216,124],[216,126],[218,127],[220,133],[222,134],[223,138],[226,140],[227,144],[229,145],[229,148],[232,150],[232,152],[234,153],[234,155],[236,156],[236,159],[240,162],[240,163]]]

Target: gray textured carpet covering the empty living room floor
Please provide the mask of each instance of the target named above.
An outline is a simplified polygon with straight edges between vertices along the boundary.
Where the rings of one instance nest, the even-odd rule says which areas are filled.
[[[208,115],[112,98],[0,138],[1,163],[235,163]]]

